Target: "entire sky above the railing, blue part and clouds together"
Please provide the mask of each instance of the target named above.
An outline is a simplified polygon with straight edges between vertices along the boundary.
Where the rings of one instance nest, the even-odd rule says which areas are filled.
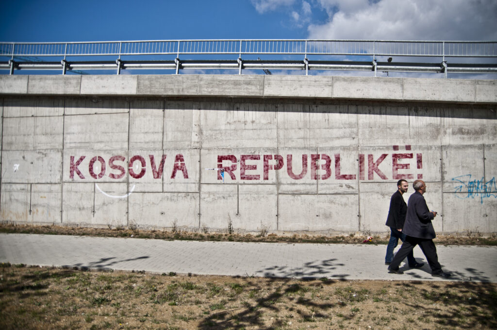
[[[497,41],[497,0],[2,1],[0,42]]]

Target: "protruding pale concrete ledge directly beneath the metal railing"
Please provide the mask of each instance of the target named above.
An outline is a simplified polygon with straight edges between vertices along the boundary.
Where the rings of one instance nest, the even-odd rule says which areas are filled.
[[[299,97],[496,103],[496,81],[317,76],[0,76],[0,94]]]

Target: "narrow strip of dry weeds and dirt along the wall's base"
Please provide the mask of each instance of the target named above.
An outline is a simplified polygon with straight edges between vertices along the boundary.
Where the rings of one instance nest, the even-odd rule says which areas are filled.
[[[390,234],[373,235],[368,233],[348,234],[338,236],[319,235],[275,235],[261,233],[259,235],[240,235],[235,233],[192,233],[188,231],[173,230],[139,230],[135,227],[117,228],[87,228],[67,226],[33,226],[11,223],[0,224],[0,233],[19,234],[47,234],[47,235],[77,235],[100,237],[126,237],[159,240],[185,240],[185,241],[230,241],[230,242],[266,242],[266,243],[323,243],[323,244],[362,244],[369,236],[372,240],[367,244],[387,244]],[[437,245],[475,245],[496,246],[497,235],[481,237],[479,233],[468,232],[466,236],[437,236],[434,240]]]

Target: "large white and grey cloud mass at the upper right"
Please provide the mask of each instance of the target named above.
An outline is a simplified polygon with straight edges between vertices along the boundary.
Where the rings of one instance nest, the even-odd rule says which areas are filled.
[[[497,40],[495,0],[319,0],[311,39]]]

